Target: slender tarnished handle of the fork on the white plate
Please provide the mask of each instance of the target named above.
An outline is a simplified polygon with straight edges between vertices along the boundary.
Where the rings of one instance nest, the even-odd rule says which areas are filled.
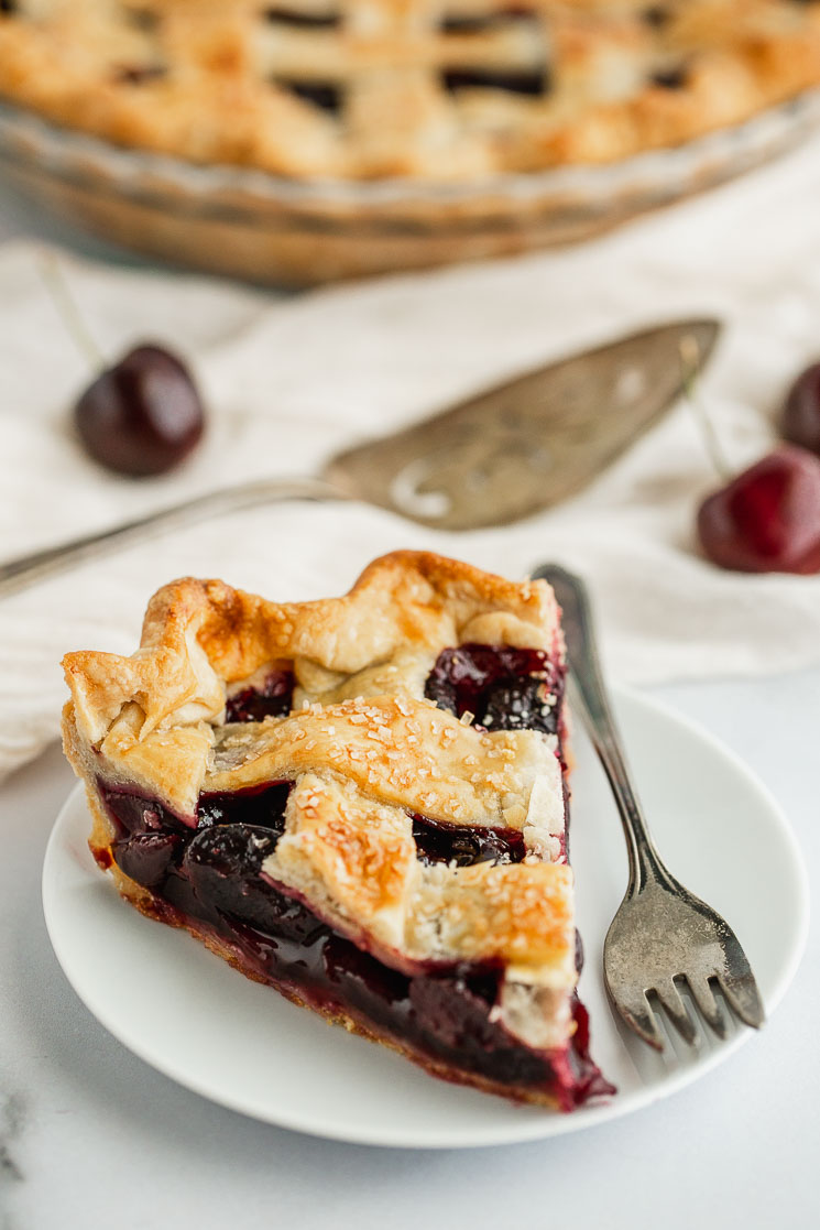
[[[666,881],[669,873],[652,840],[612,717],[586,585],[557,565],[545,565],[534,576],[550,582],[561,605],[570,668],[569,700],[583,718],[612,787],[629,856],[628,893],[641,892],[650,879]]]

